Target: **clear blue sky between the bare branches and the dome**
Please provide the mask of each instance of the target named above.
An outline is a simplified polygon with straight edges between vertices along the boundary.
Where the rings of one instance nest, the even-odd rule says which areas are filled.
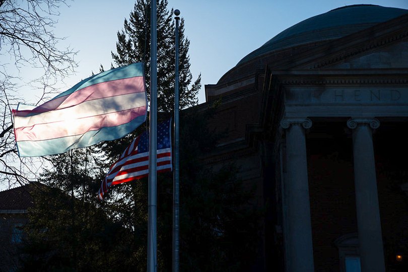
[[[98,72],[100,64],[110,67],[115,52],[116,33],[133,10],[134,0],[86,0],[62,7],[54,33],[66,37],[61,46],[79,51],[76,74],[66,78],[64,88]],[[179,9],[190,40],[193,79],[201,73],[199,103],[205,102],[205,84],[215,84],[239,60],[283,30],[307,18],[332,9],[372,4],[408,9],[408,0],[169,0],[168,7]],[[34,90],[40,95],[40,90]],[[30,98],[36,103],[35,97]]]

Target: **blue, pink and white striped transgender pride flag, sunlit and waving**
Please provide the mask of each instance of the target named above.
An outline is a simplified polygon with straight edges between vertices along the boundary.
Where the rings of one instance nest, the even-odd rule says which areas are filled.
[[[119,139],[146,121],[143,63],[82,80],[38,107],[13,110],[20,157],[59,154]]]

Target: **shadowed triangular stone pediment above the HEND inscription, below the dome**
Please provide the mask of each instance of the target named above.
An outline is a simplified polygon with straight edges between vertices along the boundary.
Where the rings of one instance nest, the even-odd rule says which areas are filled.
[[[293,55],[279,66],[289,69],[400,68],[408,66],[401,59],[408,58],[407,51],[408,14]]]

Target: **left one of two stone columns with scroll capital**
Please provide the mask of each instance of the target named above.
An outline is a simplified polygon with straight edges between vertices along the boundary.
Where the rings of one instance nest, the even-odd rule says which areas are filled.
[[[286,129],[285,195],[288,205],[288,271],[314,272],[305,129],[310,119],[283,119]]]

